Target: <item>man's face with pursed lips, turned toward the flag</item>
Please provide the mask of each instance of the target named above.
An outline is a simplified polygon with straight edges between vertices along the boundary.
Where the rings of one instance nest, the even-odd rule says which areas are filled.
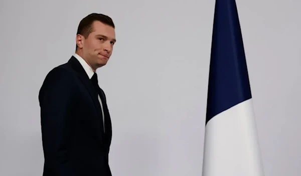
[[[96,70],[105,65],[110,58],[115,39],[115,29],[100,21],[93,22],[93,31],[87,38],[81,38],[81,55]],[[78,38],[77,38],[78,40]]]

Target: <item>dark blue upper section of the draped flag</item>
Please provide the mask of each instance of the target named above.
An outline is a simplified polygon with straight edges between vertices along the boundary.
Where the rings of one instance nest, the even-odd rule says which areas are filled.
[[[216,0],[207,97],[207,122],[252,97],[235,0]]]

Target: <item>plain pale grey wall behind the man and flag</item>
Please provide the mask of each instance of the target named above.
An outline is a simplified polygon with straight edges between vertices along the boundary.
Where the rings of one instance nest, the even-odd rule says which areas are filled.
[[[300,175],[299,0],[237,0],[266,176]],[[114,176],[201,175],[215,0],[1,0],[0,175],[43,172],[39,89],[75,50],[79,21],[111,16],[97,70]]]

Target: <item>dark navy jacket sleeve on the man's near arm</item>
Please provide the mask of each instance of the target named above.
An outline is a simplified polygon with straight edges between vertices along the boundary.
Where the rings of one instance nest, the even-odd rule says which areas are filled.
[[[72,109],[76,102],[74,85],[71,72],[56,67],[47,74],[39,92],[44,172],[47,175],[75,175],[67,157]]]

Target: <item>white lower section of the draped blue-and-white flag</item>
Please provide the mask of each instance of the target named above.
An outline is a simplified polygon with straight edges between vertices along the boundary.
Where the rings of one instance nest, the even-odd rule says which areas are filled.
[[[203,175],[263,176],[252,99],[210,119],[206,125]],[[227,173],[227,174],[225,174]],[[258,174],[259,173],[259,174]]]

